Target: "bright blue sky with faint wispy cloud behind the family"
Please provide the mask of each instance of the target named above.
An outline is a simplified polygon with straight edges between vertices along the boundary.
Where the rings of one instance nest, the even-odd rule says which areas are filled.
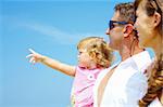
[[[121,0],[127,2],[133,0]],[[73,78],[25,58],[77,64],[77,42],[104,34],[118,0],[0,1],[0,107],[68,107]]]

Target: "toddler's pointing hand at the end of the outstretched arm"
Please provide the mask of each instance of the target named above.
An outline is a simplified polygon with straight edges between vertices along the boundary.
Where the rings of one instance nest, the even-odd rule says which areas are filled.
[[[43,61],[43,55],[35,52],[32,49],[28,49],[30,51],[30,54],[26,56],[26,58],[29,58],[29,63],[35,64]]]

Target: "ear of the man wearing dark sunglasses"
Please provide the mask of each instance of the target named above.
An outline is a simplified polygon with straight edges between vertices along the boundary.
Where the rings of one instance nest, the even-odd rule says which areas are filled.
[[[125,25],[123,29],[124,38],[128,37],[133,32],[134,26],[131,24]]]

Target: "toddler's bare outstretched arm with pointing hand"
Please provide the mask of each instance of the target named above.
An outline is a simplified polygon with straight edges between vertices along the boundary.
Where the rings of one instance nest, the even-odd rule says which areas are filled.
[[[48,56],[41,55],[34,50],[29,49],[30,54],[27,55],[26,57],[29,58],[29,63],[35,64],[35,63],[42,63],[55,70],[59,70],[65,75],[68,76],[75,76],[75,66],[71,66],[64,63],[61,63],[57,59],[52,59]]]

